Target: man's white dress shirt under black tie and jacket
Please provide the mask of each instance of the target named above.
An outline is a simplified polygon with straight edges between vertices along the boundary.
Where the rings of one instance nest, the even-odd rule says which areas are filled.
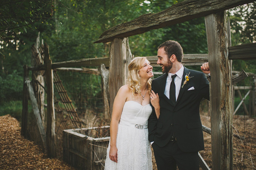
[[[184,72],[184,66],[182,65],[180,70],[178,70],[176,73],[177,76],[174,78],[174,84],[175,84],[175,97],[176,97],[176,101],[180,92],[180,86],[181,86],[181,82],[182,82],[182,77],[183,77],[183,72]],[[172,80],[172,73],[168,73],[168,77],[166,79],[166,84],[165,84],[165,96],[168,97],[170,99],[170,85]]]

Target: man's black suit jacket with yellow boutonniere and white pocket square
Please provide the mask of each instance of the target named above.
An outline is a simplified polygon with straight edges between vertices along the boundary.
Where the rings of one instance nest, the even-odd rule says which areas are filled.
[[[183,88],[180,88],[175,105],[164,94],[168,74],[165,73],[152,81],[152,90],[158,93],[160,98],[160,116],[157,119],[152,106],[153,112],[148,119],[148,139],[163,147],[169,142],[174,132],[177,144],[182,151],[195,152],[204,149],[199,105],[202,98],[210,100],[209,81],[204,73],[184,67],[181,86],[186,74],[192,78]],[[188,90],[191,87],[195,89]]]

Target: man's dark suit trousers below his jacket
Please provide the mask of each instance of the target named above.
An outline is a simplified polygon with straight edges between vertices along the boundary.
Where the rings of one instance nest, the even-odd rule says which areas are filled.
[[[183,152],[176,141],[170,141],[164,147],[152,144],[158,170],[199,170],[197,152]]]

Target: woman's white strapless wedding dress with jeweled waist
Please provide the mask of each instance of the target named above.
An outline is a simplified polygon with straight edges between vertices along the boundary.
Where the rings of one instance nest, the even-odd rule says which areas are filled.
[[[118,160],[117,163],[110,160],[109,142],[105,170],[152,170],[147,128],[151,112],[150,104],[142,106],[136,101],[125,102],[116,139]]]

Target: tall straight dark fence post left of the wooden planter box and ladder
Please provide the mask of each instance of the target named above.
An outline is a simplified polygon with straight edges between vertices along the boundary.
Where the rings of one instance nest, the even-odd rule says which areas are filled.
[[[45,77],[47,86],[47,127],[46,127],[46,143],[47,153],[49,158],[56,156],[55,149],[55,113],[53,101],[53,70],[52,61],[49,55],[49,47],[44,44],[44,62],[45,62]]]

